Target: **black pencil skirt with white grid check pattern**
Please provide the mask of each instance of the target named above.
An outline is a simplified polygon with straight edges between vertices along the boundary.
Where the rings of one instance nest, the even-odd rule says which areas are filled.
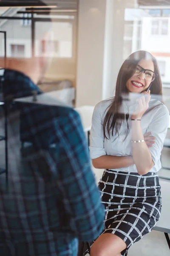
[[[132,172],[105,170],[99,181],[105,206],[104,233],[119,236],[127,244],[122,256],[134,243],[149,233],[159,221],[161,186],[156,173],[139,175]]]

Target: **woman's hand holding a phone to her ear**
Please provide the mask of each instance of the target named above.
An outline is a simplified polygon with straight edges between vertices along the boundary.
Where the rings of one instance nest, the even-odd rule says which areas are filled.
[[[150,90],[147,92],[142,93],[143,96],[140,99],[137,99],[138,107],[136,111],[132,115],[132,119],[141,119],[143,114],[149,108],[149,101],[150,101]]]

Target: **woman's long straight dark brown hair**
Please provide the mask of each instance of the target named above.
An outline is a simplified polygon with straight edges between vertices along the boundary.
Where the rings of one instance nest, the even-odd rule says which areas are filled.
[[[142,59],[145,60],[152,60],[154,64],[154,72],[158,74],[156,79],[152,82],[152,86],[150,88],[150,94],[162,95],[162,83],[161,83],[161,76],[159,72],[158,63],[156,58],[153,57],[152,54],[146,51],[137,51],[132,53],[122,64],[122,67],[119,70],[119,74],[116,81],[116,91],[115,97],[112,99],[111,105],[109,105],[108,109],[106,110],[107,113],[104,118],[103,122],[103,132],[104,137],[108,139],[106,136],[106,131],[113,136],[113,130],[115,129],[115,134],[119,136],[119,128],[122,125],[122,122],[129,118],[129,114],[120,113],[120,107],[122,105],[122,95],[128,94],[129,91],[126,87],[127,80],[130,79],[136,69],[137,64]],[[129,127],[127,124],[127,135],[129,132]],[[126,135],[126,137],[127,137]],[[126,138],[125,137],[125,138]]]

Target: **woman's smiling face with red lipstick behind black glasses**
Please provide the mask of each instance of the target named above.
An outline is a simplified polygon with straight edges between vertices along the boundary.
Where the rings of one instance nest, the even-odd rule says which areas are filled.
[[[138,65],[145,70],[151,70],[154,72],[154,64],[151,60],[142,59],[139,61]],[[149,76],[150,74],[146,74]],[[144,79],[144,73],[139,75],[133,75],[129,80],[127,80],[126,87],[132,93],[142,93],[150,86],[151,81]]]

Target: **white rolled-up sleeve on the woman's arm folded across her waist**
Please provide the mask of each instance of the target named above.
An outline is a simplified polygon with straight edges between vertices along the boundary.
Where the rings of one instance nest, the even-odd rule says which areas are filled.
[[[104,148],[104,133],[103,133],[103,115],[101,113],[101,102],[94,108],[92,116],[91,126],[91,144],[90,144],[90,155],[91,159],[95,159],[106,155]]]

